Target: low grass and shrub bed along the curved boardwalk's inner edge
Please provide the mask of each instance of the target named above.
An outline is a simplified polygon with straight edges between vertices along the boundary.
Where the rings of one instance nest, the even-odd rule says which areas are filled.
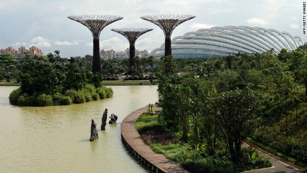
[[[180,143],[174,134],[169,134],[158,122],[157,116],[150,114],[142,114],[136,122],[136,128],[155,153],[178,162],[190,172],[242,172],[271,166],[264,156],[258,155],[250,147],[242,150],[239,164],[229,161],[229,155],[222,147],[218,147],[221,149],[217,149],[217,154],[212,156],[199,152],[189,144]]]

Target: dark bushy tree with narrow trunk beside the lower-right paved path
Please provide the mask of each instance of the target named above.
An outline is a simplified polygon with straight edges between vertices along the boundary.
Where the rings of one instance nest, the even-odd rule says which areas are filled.
[[[233,162],[238,162],[243,139],[254,129],[259,95],[246,88],[219,93],[212,102],[216,124]]]

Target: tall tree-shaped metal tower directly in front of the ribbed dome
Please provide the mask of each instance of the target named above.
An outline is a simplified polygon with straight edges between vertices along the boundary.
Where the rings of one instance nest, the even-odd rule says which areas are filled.
[[[184,23],[195,16],[187,14],[154,14],[144,15],[141,18],[158,25],[164,32],[165,36],[165,51],[164,55],[171,55],[171,33],[180,24]]]

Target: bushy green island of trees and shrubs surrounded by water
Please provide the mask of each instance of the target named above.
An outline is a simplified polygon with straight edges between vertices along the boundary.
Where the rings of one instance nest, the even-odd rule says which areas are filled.
[[[10,94],[16,105],[49,106],[83,103],[112,97],[111,88],[87,70],[80,58],[61,58],[59,51],[47,57],[26,56],[20,62],[20,88]]]

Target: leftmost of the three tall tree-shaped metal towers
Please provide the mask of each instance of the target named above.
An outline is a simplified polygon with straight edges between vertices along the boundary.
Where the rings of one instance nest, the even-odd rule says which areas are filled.
[[[114,23],[123,17],[114,15],[76,15],[68,16],[69,19],[75,20],[78,23],[89,28],[93,35],[93,64],[92,72],[101,73],[100,52],[99,52],[99,36],[104,27]]]

